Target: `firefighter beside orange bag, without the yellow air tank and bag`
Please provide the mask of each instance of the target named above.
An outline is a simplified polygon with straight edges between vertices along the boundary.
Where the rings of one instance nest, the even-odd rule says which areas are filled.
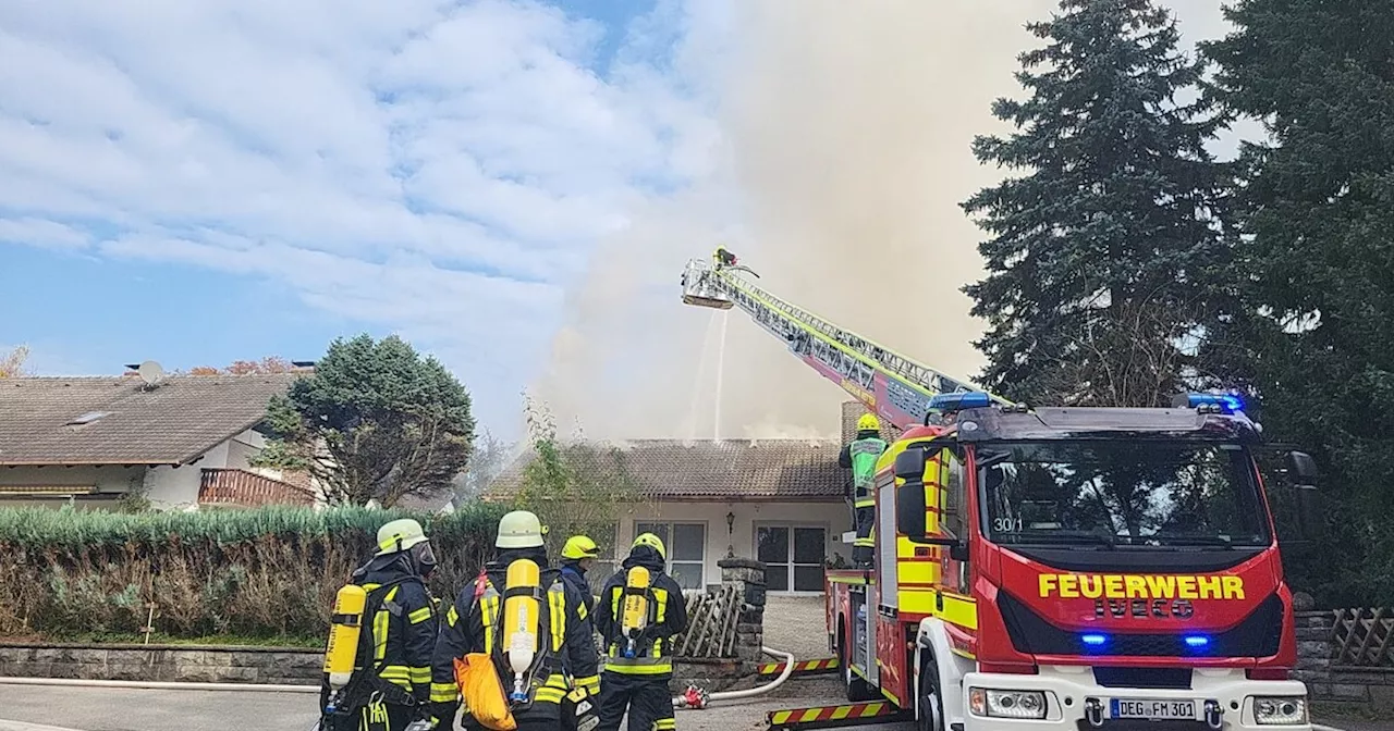
[[[507,585],[509,565],[527,558],[541,568],[538,585],[530,588],[534,590],[533,596],[539,596],[538,611],[534,614],[539,622],[538,652],[533,663],[537,670],[523,684],[526,700],[514,705],[513,717],[517,731],[555,731],[563,727],[565,698],[572,696],[570,707],[574,709],[576,702],[599,691],[598,653],[590,610],[585,608],[584,597],[566,583],[560,572],[548,567],[542,524],[537,515],[523,510],[503,515],[493,546],[493,561],[460,592],[441,625],[432,660],[434,716],[445,728],[453,723],[460,707],[454,660],[467,653],[491,654],[505,689],[516,688],[514,671],[505,661],[505,652],[509,649],[506,632],[512,628],[500,627],[500,614],[507,608],[506,596],[516,593]],[[573,689],[577,693],[570,693]],[[565,725],[574,724],[574,720],[569,721]],[[464,709],[463,723],[464,728],[480,728],[468,709]]]

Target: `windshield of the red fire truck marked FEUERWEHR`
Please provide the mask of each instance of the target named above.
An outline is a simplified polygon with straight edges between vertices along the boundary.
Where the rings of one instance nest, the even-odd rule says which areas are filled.
[[[979,447],[977,464],[983,532],[994,543],[1133,550],[1270,543],[1241,446],[997,443]]]

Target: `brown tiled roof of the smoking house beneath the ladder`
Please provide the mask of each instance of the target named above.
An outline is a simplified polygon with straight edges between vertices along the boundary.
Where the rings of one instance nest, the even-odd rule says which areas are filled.
[[[846,471],[831,440],[633,440],[598,459],[611,476],[629,476],[645,498],[683,501],[842,500]],[[602,454],[602,457],[605,457]],[[517,492],[528,451],[491,485],[488,498]]]

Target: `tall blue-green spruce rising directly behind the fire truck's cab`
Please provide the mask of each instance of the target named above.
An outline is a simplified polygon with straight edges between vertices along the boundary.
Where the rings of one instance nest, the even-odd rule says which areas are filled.
[[[990,324],[984,380],[1029,402],[1165,404],[1228,251],[1202,63],[1151,0],[1062,0],[1027,29],[1047,42],[1020,56],[1030,96],[993,107],[1018,131],[973,142],[1020,177],[963,203],[991,234],[988,276],[965,287]]]

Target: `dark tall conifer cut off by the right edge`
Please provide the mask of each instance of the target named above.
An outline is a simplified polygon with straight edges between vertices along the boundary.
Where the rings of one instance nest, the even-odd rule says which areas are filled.
[[[1263,120],[1241,156],[1231,333],[1270,433],[1313,450],[1334,498],[1306,567],[1327,602],[1394,602],[1394,0],[1241,0],[1206,45],[1216,96]],[[1217,333],[1221,334],[1221,333]],[[1227,345],[1230,343],[1218,343]],[[1340,561],[1330,561],[1340,556]]]

